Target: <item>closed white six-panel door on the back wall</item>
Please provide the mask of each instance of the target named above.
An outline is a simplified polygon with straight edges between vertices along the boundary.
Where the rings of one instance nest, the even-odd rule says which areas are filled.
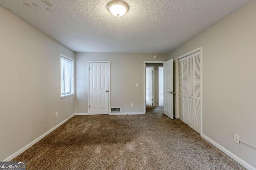
[[[90,115],[109,113],[108,63],[90,63]]]

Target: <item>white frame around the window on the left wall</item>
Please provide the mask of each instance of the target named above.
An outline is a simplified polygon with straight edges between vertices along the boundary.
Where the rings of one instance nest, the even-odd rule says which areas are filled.
[[[61,95],[61,80],[60,80],[61,79],[61,65],[60,65],[61,58],[68,59],[73,63],[73,93],[72,94]],[[59,58],[59,94],[60,94],[60,99],[75,95],[75,60],[63,54],[60,54],[60,58]]]

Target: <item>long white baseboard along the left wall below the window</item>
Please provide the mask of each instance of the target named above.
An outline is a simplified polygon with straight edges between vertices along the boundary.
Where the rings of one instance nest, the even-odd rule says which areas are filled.
[[[15,158],[16,156],[18,156],[19,154],[21,154],[22,152],[24,152],[25,150],[27,150],[29,147],[31,147],[32,145],[34,145],[35,143],[37,143],[38,141],[40,141],[42,138],[44,138],[46,135],[48,135],[49,133],[51,133],[52,131],[54,131],[55,129],[57,129],[60,125],[62,125],[63,123],[65,123],[66,121],[68,121],[68,119],[70,119],[71,117],[73,117],[73,115],[71,115],[70,117],[68,117],[67,119],[65,119],[64,121],[60,122],[58,125],[54,126],[52,129],[50,129],[49,131],[47,131],[46,133],[44,133],[43,135],[41,135],[40,137],[36,138],[34,141],[32,141],[31,143],[29,143],[28,145],[26,145],[25,147],[23,147],[22,149],[14,152],[13,154],[11,154],[10,156],[8,156],[7,158],[5,158],[4,160],[2,160],[3,162],[7,162],[12,160],[13,158]]]

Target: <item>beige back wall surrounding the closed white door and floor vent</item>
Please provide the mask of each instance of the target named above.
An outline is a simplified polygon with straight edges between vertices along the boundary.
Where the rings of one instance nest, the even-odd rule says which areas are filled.
[[[158,55],[157,59],[153,59]],[[75,113],[88,113],[88,61],[110,61],[110,107],[144,112],[143,62],[167,61],[167,53],[76,53]],[[138,83],[138,87],[135,87]],[[133,103],[133,107],[130,104]]]

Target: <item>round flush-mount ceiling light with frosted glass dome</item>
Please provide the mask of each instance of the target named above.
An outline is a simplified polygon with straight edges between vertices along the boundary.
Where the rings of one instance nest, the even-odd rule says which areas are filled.
[[[116,17],[123,16],[129,10],[128,4],[122,0],[109,2],[107,8]]]

